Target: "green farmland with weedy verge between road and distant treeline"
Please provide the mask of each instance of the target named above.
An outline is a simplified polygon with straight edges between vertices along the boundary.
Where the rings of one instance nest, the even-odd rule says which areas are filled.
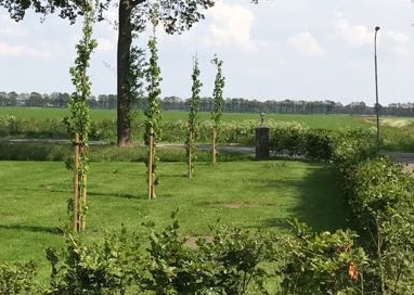
[[[13,115],[24,121],[8,125],[5,116]],[[0,138],[26,137],[26,138],[67,138],[66,127],[62,119],[68,115],[65,108],[39,108],[39,107],[0,107]],[[116,141],[116,111],[115,110],[91,110],[92,120],[95,123],[95,140],[106,142]],[[2,119],[3,118],[3,119]],[[184,142],[186,112],[170,111],[163,113],[165,142]],[[200,125],[208,126],[209,113],[200,113]],[[142,139],[144,115],[139,113],[133,123],[133,138],[135,141]],[[222,143],[240,143],[251,145],[250,139],[240,136],[237,132],[249,134],[255,126],[260,124],[259,114],[251,113],[224,113],[223,129],[232,133],[222,133]],[[280,121],[300,123],[311,129],[344,130],[363,128],[376,132],[375,117],[350,116],[350,115],[286,115],[267,114],[266,121],[269,126],[276,126]],[[172,124],[171,124],[172,123]],[[413,118],[384,116],[379,119],[380,150],[414,152],[414,121]],[[13,129],[14,128],[14,129]],[[141,129],[140,129],[141,128]],[[240,129],[238,131],[236,129]],[[247,128],[247,129],[246,129]],[[17,130],[17,131],[15,131]],[[12,132],[16,132],[12,134]],[[199,142],[208,142],[208,131],[202,132]],[[206,136],[207,134],[207,136]],[[169,137],[168,137],[169,136]],[[227,141],[230,138],[232,141]],[[235,140],[235,141],[234,141]],[[240,140],[240,142],[237,141]]]

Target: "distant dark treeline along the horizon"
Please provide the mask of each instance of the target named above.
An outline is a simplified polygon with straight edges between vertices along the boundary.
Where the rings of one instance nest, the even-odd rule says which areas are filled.
[[[0,92],[0,106],[39,106],[39,107],[66,107],[70,94],[53,92],[51,94]],[[89,106],[91,108],[116,108],[115,94],[100,94],[90,97]],[[187,111],[187,101],[178,97],[166,97],[160,100],[165,111]],[[199,110],[210,112],[212,110],[212,99],[202,98]],[[137,101],[138,108],[144,108],[144,101]],[[364,102],[352,102],[341,104],[331,100],[324,101],[258,101],[246,99],[225,99],[224,112],[233,113],[276,113],[276,114],[351,114],[351,115],[374,115],[376,110],[367,106]],[[392,103],[388,106],[379,105],[380,115],[392,116],[414,116],[414,103]]]

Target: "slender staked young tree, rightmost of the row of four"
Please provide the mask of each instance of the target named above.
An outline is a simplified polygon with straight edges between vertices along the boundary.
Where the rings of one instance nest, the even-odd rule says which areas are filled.
[[[212,91],[212,100],[214,100],[214,110],[211,112],[212,119],[212,164],[217,162],[217,134],[219,130],[219,125],[221,121],[221,115],[223,112],[223,88],[224,88],[224,77],[222,73],[223,62],[219,60],[217,55],[212,59],[211,63],[217,68],[216,80],[215,80],[215,89]]]

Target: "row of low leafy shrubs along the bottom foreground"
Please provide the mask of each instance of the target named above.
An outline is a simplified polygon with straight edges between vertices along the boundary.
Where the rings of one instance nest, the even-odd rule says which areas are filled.
[[[224,226],[187,238],[179,222],[161,231],[107,235],[87,245],[68,235],[66,249],[49,248],[47,294],[358,294],[367,265],[351,231],[295,235]],[[342,293],[341,293],[342,292]]]

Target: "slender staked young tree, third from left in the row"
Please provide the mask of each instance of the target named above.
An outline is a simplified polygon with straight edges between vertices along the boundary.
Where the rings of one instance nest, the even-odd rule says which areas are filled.
[[[196,125],[197,125],[197,115],[199,108],[199,92],[203,84],[199,81],[199,68],[198,68],[198,60],[197,56],[194,57],[193,64],[193,86],[191,88],[192,97],[189,101],[190,113],[187,120],[187,134],[186,134],[186,143],[185,143],[185,152],[186,152],[186,164],[187,164],[187,177],[192,178],[194,174],[194,162],[195,162],[195,138],[196,138]]]

